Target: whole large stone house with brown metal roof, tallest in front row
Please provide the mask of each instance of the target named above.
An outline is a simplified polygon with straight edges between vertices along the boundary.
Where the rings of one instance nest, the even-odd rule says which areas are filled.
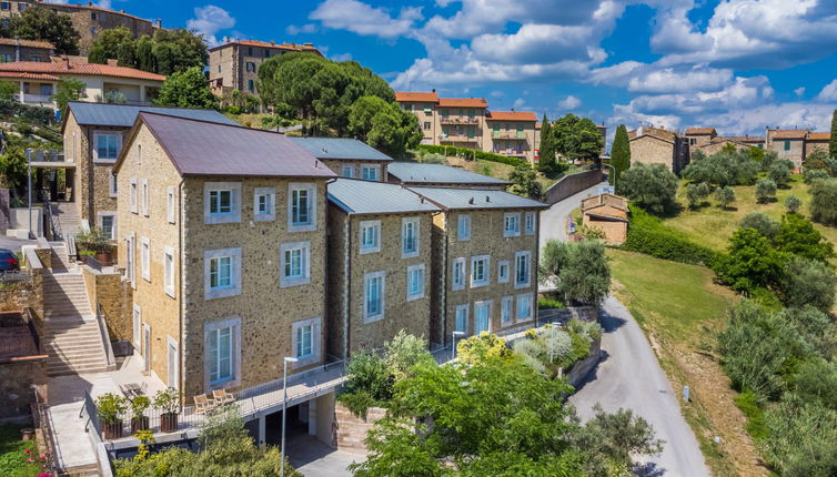
[[[114,171],[149,372],[191,400],[323,363],[332,171],[282,134],[148,112]]]

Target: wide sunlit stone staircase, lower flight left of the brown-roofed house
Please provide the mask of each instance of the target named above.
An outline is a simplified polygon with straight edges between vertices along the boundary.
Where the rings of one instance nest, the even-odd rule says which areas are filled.
[[[60,258],[60,252],[56,251],[56,254]],[[78,273],[44,274],[43,292],[49,353],[47,374],[64,376],[109,371],[99,323],[90,307],[82,276]]]

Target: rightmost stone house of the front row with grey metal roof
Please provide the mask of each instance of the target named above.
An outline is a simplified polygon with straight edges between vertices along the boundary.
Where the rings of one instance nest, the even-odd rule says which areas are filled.
[[[431,343],[453,333],[506,332],[537,316],[538,212],[503,191],[410,187],[437,205],[433,220]]]

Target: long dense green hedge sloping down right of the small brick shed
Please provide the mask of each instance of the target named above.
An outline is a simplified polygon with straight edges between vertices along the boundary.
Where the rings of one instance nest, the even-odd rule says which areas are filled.
[[[683,233],[667,227],[658,217],[635,205],[631,205],[631,224],[622,248],[710,268],[720,256],[710,248],[693,243]]]

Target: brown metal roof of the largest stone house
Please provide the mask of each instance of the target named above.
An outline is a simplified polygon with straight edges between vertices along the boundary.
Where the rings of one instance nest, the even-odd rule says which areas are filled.
[[[181,175],[336,176],[284,134],[149,112],[137,121],[132,134],[144,123]]]

